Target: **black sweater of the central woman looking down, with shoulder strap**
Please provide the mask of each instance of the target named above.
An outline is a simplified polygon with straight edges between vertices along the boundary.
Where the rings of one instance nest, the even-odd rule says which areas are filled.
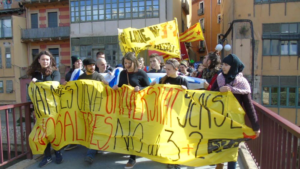
[[[128,73],[129,83],[132,87],[139,86],[140,90],[150,85],[149,78],[145,71],[138,69],[137,72]],[[127,70],[122,70],[119,77],[118,87],[122,87],[123,84],[128,85]]]

